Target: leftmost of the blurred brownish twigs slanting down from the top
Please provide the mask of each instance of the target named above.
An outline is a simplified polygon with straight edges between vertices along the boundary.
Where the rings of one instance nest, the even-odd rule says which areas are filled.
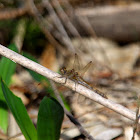
[[[61,51],[61,53],[65,56],[67,53],[64,50],[64,48],[54,39],[54,37],[51,35],[50,31],[53,27],[52,25],[47,22],[46,20],[44,20],[44,18],[42,17],[42,15],[39,13],[39,11],[37,10],[34,2],[32,0],[28,0],[27,1],[27,5],[28,5],[28,9],[30,10],[31,14],[34,16],[35,20],[37,21],[37,23],[39,24],[42,32],[44,32],[46,38],[48,38],[48,40],[50,41],[50,43],[56,47],[58,47],[58,49]]]

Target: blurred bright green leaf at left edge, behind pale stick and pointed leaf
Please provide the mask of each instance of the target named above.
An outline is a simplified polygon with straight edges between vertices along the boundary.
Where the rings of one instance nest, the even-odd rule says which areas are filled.
[[[13,51],[18,51],[14,44],[9,46],[9,49]],[[0,61],[0,77],[3,78],[7,85],[11,82],[11,77],[15,72],[16,63],[11,61],[6,57],[2,57]],[[3,92],[0,86],[0,128],[4,133],[7,132],[8,127],[8,112],[7,112],[7,104],[5,102]]]

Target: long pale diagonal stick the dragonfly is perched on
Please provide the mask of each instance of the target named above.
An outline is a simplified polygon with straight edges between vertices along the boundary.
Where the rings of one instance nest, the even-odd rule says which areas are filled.
[[[26,57],[8,49],[2,45],[0,45],[0,54],[28,69],[31,69],[31,70],[47,77],[48,79],[51,79],[60,84],[65,83],[65,78],[59,78],[60,74],[55,73],[55,72],[43,67],[42,65],[40,65],[36,62],[33,62],[32,60],[29,60]],[[66,84],[64,84],[64,85],[75,91],[75,82],[74,81],[71,81],[70,79],[68,79]],[[95,102],[97,102],[103,106],[106,106],[107,108],[110,108],[111,110],[114,110],[115,112],[117,112],[131,120],[135,120],[135,116],[136,116],[135,112],[127,109],[126,107],[124,107],[120,104],[117,104],[113,101],[110,101],[108,99],[101,97],[96,92],[94,92],[80,84],[77,84],[76,92],[94,100]]]

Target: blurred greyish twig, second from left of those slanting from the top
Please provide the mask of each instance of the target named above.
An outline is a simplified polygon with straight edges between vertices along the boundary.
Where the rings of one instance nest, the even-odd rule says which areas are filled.
[[[75,48],[67,34],[67,32],[65,31],[61,21],[59,20],[57,14],[55,13],[52,5],[49,3],[49,0],[43,0],[43,3],[46,5],[50,16],[55,24],[55,26],[57,27],[57,29],[59,30],[59,32],[62,34],[62,41],[63,43],[66,45],[66,47],[68,48],[69,51],[71,52],[75,52]]]

